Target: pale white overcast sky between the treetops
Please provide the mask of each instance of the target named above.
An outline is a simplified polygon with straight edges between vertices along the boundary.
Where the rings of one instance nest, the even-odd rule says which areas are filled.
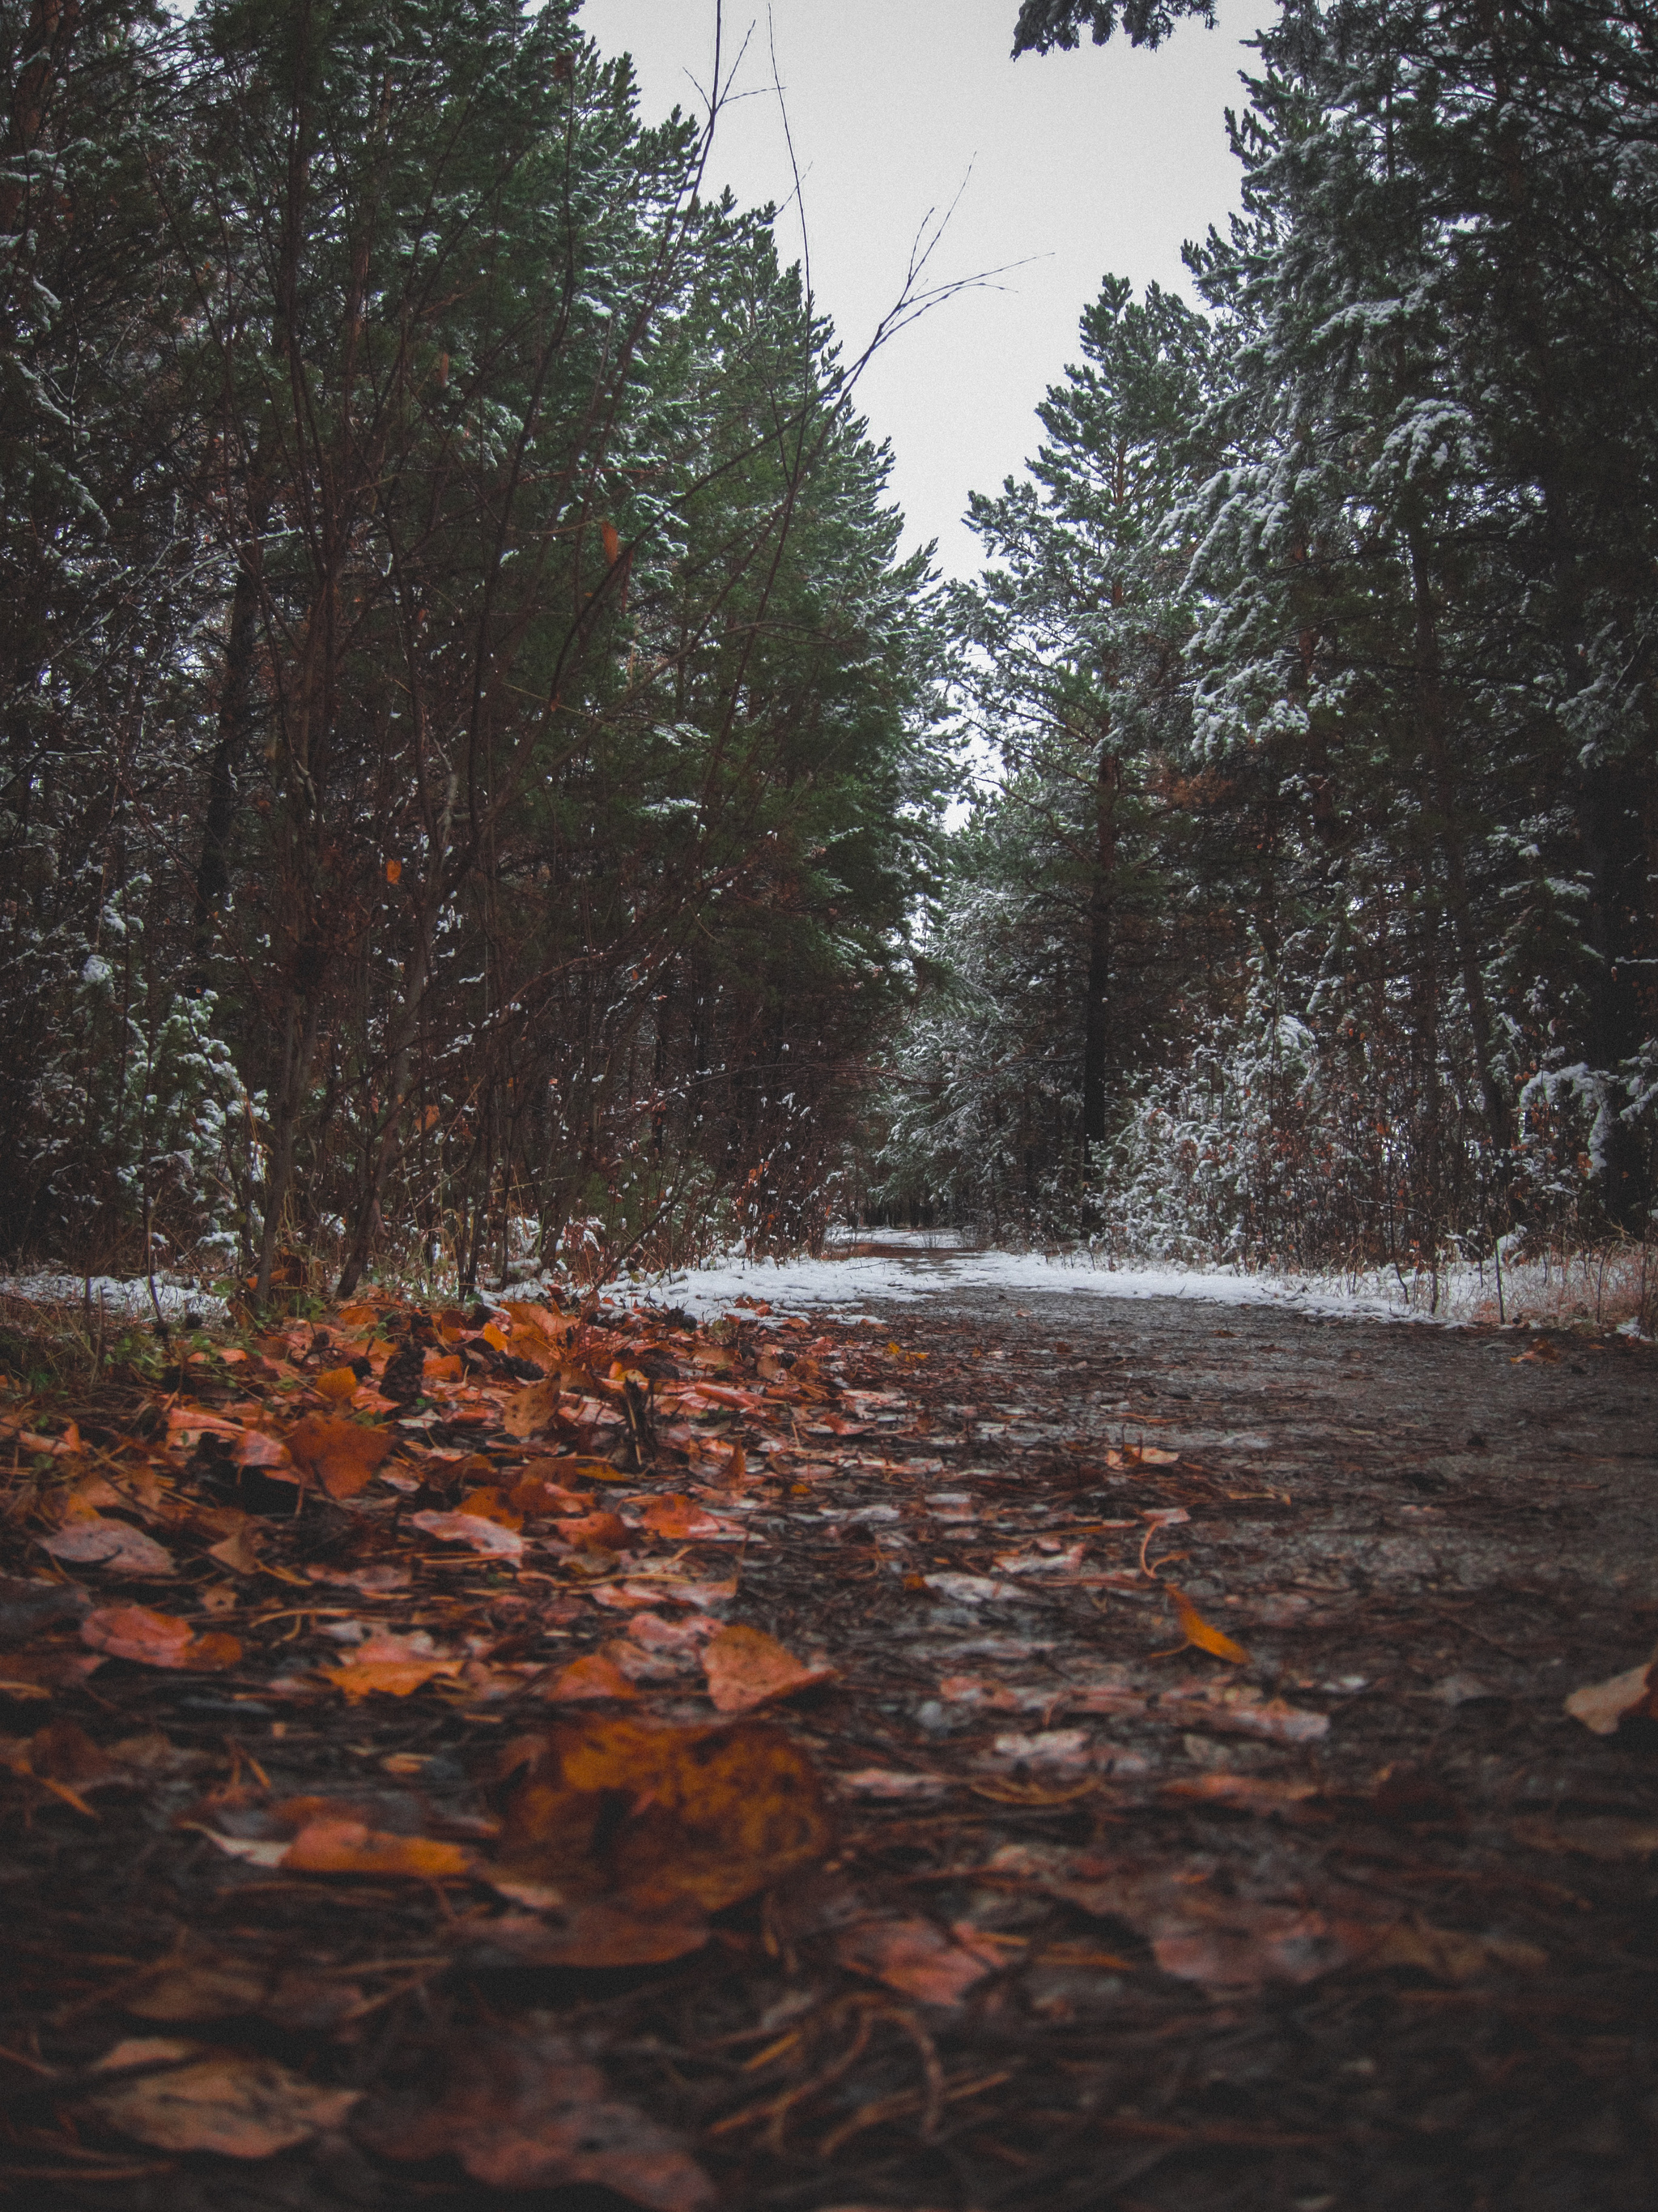
[[[794,192],[772,42],[805,179],[811,283],[853,358],[898,299],[911,241],[966,179],[933,257],[944,281],[1024,261],[944,301],[869,365],[858,405],[891,438],[906,544],[977,571],[968,491],[997,491],[1035,449],[1037,400],[1077,358],[1077,319],[1108,272],[1187,292],[1185,239],[1225,223],[1238,168],[1222,115],[1242,106],[1240,40],[1273,0],[1222,0],[1220,27],[1176,29],[1156,53],[1108,46],[1008,60],[1017,0],[725,0],[725,55],[754,24],[721,117],[710,190],[743,206]],[[586,0],[581,27],[628,51],[648,119],[701,113],[714,0]],[[694,82],[692,82],[694,80]],[[968,175],[970,173],[970,175]],[[800,215],[778,221],[785,261]]]

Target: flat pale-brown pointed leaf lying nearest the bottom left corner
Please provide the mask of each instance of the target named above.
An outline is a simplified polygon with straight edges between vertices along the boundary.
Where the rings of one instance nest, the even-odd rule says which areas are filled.
[[[95,2070],[126,2073],[135,2066],[164,2070],[99,2090],[86,2106],[111,2128],[157,2150],[270,2159],[323,2128],[338,2128],[363,2097],[354,2088],[318,2088],[276,2059],[166,2037],[128,2037]]]

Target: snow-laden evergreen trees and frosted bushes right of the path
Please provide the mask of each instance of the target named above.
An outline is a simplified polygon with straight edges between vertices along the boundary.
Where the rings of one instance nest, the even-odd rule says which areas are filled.
[[[1112,20],[1032,4],[1019,42]],[[1209,316],[1108,279],[1028,480],[975,502],[957,619],[1001,779],[878,1188],[1006,1214],[948,1110],[1001,1086],[1030,1230],[1300,1263],[1640,1234],[1649,24],[1284,0],[1258,46],[1245,208],[1189,252]]]

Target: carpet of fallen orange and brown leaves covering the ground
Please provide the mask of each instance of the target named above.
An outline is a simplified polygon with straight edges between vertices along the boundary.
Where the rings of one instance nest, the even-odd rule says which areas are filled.
[[[1470,1812],[1395,1717],[1501,1686],[1406,1688],[1225,1451],[1061,1405],[1021,1440],[1052,1356],[982,1336],[365,1298],[73,1418],[7,1398],[13,2192],[115,2203],[144,2146],[230,2205],[214,2159],[349,2141],[376,2203],[1046,2205],[1103,2141],[1147,2205],[1267,2205],[1386,2119],[1236,2119],[1158,2051],[1271,2044],[1282,1993],[1337,2042],[1523,2035],[1539,1993],[1616,2039],[1581,1891],[1649,1807]],[[1298,1672],[1331,1624],[1346,1672]],[[1651,1674],[1565,1717],[1649,1756]],[[1300,2179],[1227,2194],[1220,2146]]]

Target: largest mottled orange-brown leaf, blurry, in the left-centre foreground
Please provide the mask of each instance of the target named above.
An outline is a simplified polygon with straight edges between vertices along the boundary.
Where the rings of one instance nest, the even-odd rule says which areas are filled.
[[[829,1816],[807,1756],[760,1721],[568,1721],[506,1812],[502,1863],[641,1907],[736,1905],[822,1858]]]

